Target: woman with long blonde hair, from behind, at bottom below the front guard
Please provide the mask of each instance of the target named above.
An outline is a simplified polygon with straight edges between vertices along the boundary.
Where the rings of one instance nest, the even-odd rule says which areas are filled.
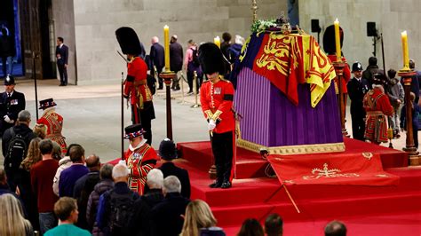
[[[212,214],[208,203],[202,200],[194,200],[188,203],[184,219],[182,236],[225,236],[225,232],[216,227],[217,220]]]

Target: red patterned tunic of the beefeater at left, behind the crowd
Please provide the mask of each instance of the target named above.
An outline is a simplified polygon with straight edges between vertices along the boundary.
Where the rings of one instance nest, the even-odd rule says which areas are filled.
[[[63,116],[57,114],[54,109],[47,109],[37,123],[42,123],[47,127],[45,138],[50,138],[52,141],[57,142],[61,146],[61,153],[65,154],[68,146],[61,134],[61,130],[63,130]]]

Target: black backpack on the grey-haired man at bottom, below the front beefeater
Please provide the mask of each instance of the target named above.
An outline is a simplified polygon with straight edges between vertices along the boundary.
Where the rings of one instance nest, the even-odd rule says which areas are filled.
[[[109,192],[110,223],[109,232],[112,235],[126,235],[133,216],[133,205],[136,201],[136,194],[133,192],[117,194],[114,190]]]

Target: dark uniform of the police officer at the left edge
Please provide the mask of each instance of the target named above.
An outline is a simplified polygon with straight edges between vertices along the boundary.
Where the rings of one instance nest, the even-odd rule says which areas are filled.
[[[0,93],[0,137],[4,130],[11,128],[14,123],[4,121],[4,115],[8,115],[12,121],[18,119],[20,111],[25,110],[25,95],[19,91],[13,90],[11,97],[8,97],[7,92]]]

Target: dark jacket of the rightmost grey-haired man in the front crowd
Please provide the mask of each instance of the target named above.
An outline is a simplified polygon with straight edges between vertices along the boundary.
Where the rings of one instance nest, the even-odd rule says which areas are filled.
[[[165,199],[158,203],[150,213],[152,220],[152,235],[176,236],[183,228],[187,204],[190,202],[180,193],[167,193]]]

